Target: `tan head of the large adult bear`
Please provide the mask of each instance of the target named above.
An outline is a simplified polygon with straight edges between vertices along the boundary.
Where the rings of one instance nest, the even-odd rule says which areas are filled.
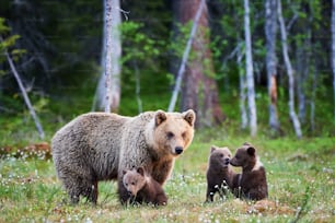
[[[190,144],[194,136],[195,113],[157,111],[154,117],[153,140],[158,153],[178,156]]]

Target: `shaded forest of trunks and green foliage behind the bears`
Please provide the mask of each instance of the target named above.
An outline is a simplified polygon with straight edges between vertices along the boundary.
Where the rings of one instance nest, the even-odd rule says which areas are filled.
[[[104,51],[111,11],[105,4],[1,1],[3,131],[24,124],[33,128],[23,92],[51,132],[81,113],[104,110],[99,89],[105,91],[106,59],[117,67],[111,80],[117,84],[112,111],[168,110],[199,11],[173,110],[195,109],[198,128],[334,137],[332,1],[114,1],[118,10],[112,20],[118,16],[119,24],[111,24],[112,36],[119,42],[111,57]]]

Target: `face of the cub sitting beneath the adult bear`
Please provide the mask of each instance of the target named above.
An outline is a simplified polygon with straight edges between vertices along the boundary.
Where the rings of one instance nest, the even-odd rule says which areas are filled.
[[[123,183],[130,196],[137,196],[137,192],[146,185],[146,177],[142,168],[124,171]]]

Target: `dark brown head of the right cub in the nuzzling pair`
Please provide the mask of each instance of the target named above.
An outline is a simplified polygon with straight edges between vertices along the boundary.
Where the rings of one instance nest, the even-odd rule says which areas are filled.
[[[231,159],[230,164],[233,166],[247,166],[256,161],[256,150],[249,143],[236,150],[235,155]]]

